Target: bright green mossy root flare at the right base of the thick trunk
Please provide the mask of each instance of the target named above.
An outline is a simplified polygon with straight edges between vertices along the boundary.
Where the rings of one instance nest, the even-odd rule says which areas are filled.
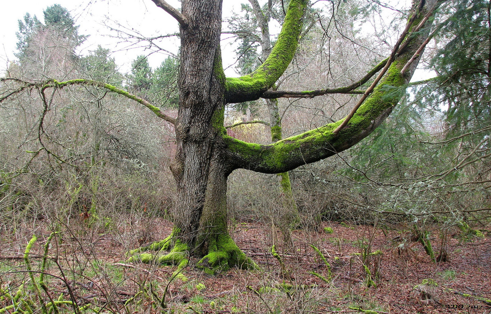
[[[208,254],[198,262],[197,267],[205,273],[215,275],[230,267],[242,269],[258,269],[259,267],[247,257],[235,244],[228,234],[217,235],[214,241],[210,241]]]

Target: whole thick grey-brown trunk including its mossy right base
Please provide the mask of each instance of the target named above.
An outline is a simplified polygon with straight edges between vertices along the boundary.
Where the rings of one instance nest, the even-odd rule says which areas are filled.
[[[183,1],[189,27],[181,29],[174,252],[203,257],[210,272],[254,266],[228,235],[223,113],[225,76],[220,56],[221,0]]]

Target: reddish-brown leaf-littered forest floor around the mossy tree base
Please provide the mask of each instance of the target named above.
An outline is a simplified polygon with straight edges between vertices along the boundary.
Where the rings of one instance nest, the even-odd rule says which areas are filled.
[[[2,293],[13,295],[22,283],[26,289],[29,274],[36,281],[36,272],[45,272],[53,275],[45,280],[52,298],[77,300],[78,308],[60,305],[62,313],[85,313],[90,308],[95,313],[127,314],[491,313],[491,234],[487,232],[484,238],[456,234],[442,240],[435,228],[430,239],[436,255],[442,246],[446,251],[446,261],[435,263],[402,228],[323,222],[319,231],[294,230],[293,248],[286,250],[278,230],[244,221],[233,225],[230,233],[260,270],[232,268],[209,276],[192,267],[197,260],[191,258],[184,270],[188,280],[169,282],[175,266],[125,262],[128,249],[164,238],[172,227],[162,219],[153,226],[148,234],[131,226],[105,232],[82,226],[60,232],[48,245],[51,261],[44,268],[36,254],[43,254],[50,231],[37,229],[38,240],[30,251],[34,273],[27,272],[23,259],[32,231],[2,232]],[[271,254],[273,244],[283,267]],[[329,267],[312,246],[322,252]],[[368,287],[370,279],[374,284]],[[50,300],[46,292],[30,289],[34,303],[36,293]],[[0,313],[9,304],[5,294],[0,296]]]

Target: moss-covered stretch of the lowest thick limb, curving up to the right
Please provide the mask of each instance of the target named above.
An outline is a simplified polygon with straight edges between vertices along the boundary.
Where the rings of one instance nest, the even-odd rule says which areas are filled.
[[[235,169],[280,173],[319,161],[353,146],[377,128],[399,102],[401,94],[391,91],[393,87],[407,83],[400,73],[404,64],[405,60],[402,58],[392,63],[387,75],[338,135],[332,131],[343,120],[269,145],[246,143],[224,136],[228,144],[230,163]]]

